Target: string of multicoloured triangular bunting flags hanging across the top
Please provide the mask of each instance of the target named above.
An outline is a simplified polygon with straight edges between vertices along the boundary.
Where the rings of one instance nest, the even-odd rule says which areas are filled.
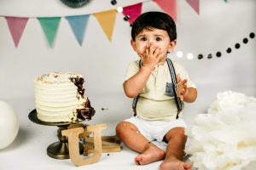
[[[148,0],[156,3],[160,8],[172,16],[172,19],[177,21],[177,11],[176,11],[176,0]],[[143,3],[148,3],[148,1]],[[189,3],[189,6],[195,10],[197,14],[200,14],[200,0],[186,0]],[[228,3],[228,0],[224,0],[225,3]],[[116,3],[111,2],[113,5]],[[44,35],[49,43],[49,47],[53,48],[55,41],[56,32],[61,22],[61,18],[65,18],[68,21],[69,26],[71,27],[74,37],[79,42],[79,45],[83,45],[84,32],[90,15],[96,17],[96,20],[102,26],[102,31],[108,37],[109,42],[112,40],[113,27],[115,23],[115,18],[117,13],[124,14],[124,20],[129,21],[131,24],[137,17],[142,14],[143,3],[136,3],[126,7],[118,7],[117,9],[112,9],[108,11],[103,11],[96,14],[79,14],[72,16],[59,16],[59,17],[16,17],[16,16],[3,16],[7,20],[9,26],[10,34],[15,43],[15,48],[18,48],[20,38],[22,37],[23,31],[26,28],[26,23],[30,19],[37,19],[44,31]],[[200,57],[199,57],[200,58]],[[208,57],[210,58],[210,57]]]

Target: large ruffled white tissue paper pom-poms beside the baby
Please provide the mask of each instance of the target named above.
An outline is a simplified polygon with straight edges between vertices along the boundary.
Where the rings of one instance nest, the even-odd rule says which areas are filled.
[[[256,170],[256,99],[218,93],[208,114],[186,129],[185,152],[198,170]]]

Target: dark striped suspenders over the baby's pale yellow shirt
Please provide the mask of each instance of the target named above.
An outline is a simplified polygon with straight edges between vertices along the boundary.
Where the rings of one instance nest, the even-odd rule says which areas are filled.
[[[182,110],[182,103],[181,103],[181,100],[177,97],[177,80],[176,80],[176,73],[175,73],[174,67],[173,67],[173,65],[172,65],[171,59],[166,58],[166,62],[167,62],[167,64],[168,64],[169,71],[170,71],[170,74],[171,74],[172,89],[173,89],[173,94],[174,94],[175,102],[176,102],[176,105],[177,105],[177,116],[176,116],[176,119],[178,119],[178,113]],[[142,64],[142,59],[140,59],[140,62],[139,62],[140,68],[142,67],[142,65],[143,65],[143,64]],[[133,109],[133,111],[134,111],[134,115],[133,115],[133,116],[137,116],[136,106],[137,106],[137,100],[138,100],[139,96],[140,96],[140,94],[138,94],[138,95],[133,99],[133,102],[132,102],[132,109]]]

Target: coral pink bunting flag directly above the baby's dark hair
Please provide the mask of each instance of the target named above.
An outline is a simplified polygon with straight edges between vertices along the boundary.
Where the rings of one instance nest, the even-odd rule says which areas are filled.
[[[176,12],[176,0],[153,0],[157,3],[160,8],[162,8],[166,14],[172,16],[172,19],[176,22],[177,12]]]

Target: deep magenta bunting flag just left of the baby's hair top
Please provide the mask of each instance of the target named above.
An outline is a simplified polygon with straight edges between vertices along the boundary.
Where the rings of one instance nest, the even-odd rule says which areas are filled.
[[[134,22],[137,17],[142,14],[143,3],[137,3],[123,8],[123,14],[129,15],[130,24]]]

